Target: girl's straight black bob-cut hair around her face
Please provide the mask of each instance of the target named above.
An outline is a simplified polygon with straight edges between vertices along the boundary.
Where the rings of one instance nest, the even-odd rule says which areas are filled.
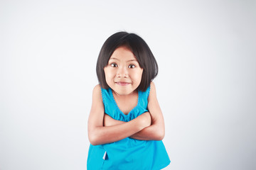
[[[146,42],[140,38],[139,35],[127,32],[114,33],[110,36],[110,38],[107,38],[107,40],[102,45],[96,65],[97,78],[100,86],[103,89],[110,88],[110,86],[107,85],[105,79],[104,68],[107,66],[114,50],[122,46],[127,47],[132,51],[137,61],[139,62],[139,67],[143,69],[142,81],[139,84],[137,90],[146,91],[151,81],[158,74],[158,65]]]

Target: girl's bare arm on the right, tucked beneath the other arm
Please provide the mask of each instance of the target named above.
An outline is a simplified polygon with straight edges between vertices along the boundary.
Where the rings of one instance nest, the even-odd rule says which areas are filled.
[[[156,88],[151,82],[151,90],[148,103],[149,113],[151,114],[151,125],[143,130],[131,135],[130,137],[137,140],[162,140],[164,138],[164,117],[156,98]],[[106,125],[120,125],[124,122],[112,119],[105,115]]]

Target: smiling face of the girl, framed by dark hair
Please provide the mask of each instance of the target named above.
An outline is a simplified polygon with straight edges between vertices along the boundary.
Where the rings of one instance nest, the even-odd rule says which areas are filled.
[[[104,68],[107,85],[119,95],[131,94],[142,81],[143,69],[127,47],[114,50]]]

